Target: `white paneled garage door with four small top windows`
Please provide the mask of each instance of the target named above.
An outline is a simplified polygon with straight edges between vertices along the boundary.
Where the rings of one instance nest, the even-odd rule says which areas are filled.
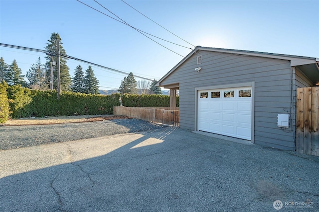
[[[197,129],[251,141],[251,87],[198,91]]]

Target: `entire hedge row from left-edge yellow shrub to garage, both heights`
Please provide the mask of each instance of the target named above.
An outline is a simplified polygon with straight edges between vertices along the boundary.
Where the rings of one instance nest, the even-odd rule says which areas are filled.
[[[124,94],[126,107],[169,107],[169,96],[159,94]],[[0,83],[0,123],[11,118],[30,116],[70,116],[113,114],[113,106],[120,106],[120,94],[101,95],[64,91],[57,98],[55,90],[30,90],[21,85]],[[176,97],[179,107],[179,97]]]

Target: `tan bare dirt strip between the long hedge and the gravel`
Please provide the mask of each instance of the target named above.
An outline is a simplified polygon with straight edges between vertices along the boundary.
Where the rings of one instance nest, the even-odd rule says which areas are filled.
[[[97,122],[111,119],[129,119],[128,116],[115,115],[85,115],[85,116],[57,116],[44,118],[23,118],[10,119],[1,126],[20,126],[20,125],[50,125],[50,124],[64,124],[64,123],[78,123],[78,122]]]

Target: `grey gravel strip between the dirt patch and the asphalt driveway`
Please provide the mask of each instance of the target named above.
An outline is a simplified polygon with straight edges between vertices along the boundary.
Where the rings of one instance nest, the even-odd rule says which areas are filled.
[[[55,125],[2,126],[0,127],[0,150],[52,142],[98,138],[115,134],[144,132],[162,127],[139,119],[117,119]]]

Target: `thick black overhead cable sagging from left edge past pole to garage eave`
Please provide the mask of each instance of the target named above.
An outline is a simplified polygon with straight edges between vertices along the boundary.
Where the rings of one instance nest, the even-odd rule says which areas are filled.
[[[14,48],[14,49],[21,49],[21,50],[26,50],[26,51],[42,52],[42,53],[44,53],[46,55],[52,55],[52,53],[50,51],[47,51],[47,50],[34,49],[34,48],[23,47],[23,46],[15,46],[15,45],[4,44],[4,43],[0,43],[0,46],[8,47],[8,48]],[[79,59],[79,58],[75,58],[75,57],[72,57],[72,56],[69,56],[69,55],[65,55],[65,54],[61,54],[60,53],[60,56],[65,57],[65,58],[69,58],[69,59],[72,59],[72,60],[80,61],[82,63],[90,64],[90,65],[93,65],[93,66],[97,66],[97,67],[100,67],[100,68],[103,68],[103,69],[107,69],[107,70],[110,70],[110,71],[114,71],[114,72],[122,73],[122,74],[125,74],[125,75],[129,75],[129,73],[127,73],[127,72],[119,71],[119,70],[112,69],[112,68],[105,67],[105,66],[101,66],[101,65],[98,65],[98,64],[95,64],[95,63],[91,63],[91,62],[88,62],[88,61],[85,61],[85,60],[82,60],[82,59]],[[146,78],[146,77],[143,77],[143,76],[138,76],[138,75],[134,75],[134,76],[138,77],[138,78],[141,78],[141,79],[149,80],[149,81],[153,81],[154,80],[154,79],[149,79],[149,78]]]

